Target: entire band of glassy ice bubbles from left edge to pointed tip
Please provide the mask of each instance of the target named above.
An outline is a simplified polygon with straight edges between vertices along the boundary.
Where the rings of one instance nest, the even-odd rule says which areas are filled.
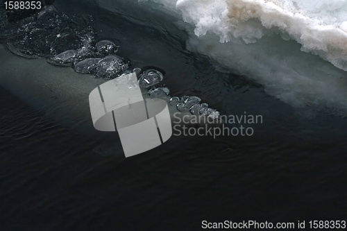
[[[6,18],[1,11],[0,19]],[[151,98],[164,99],[180,112],[218,119],[220,113],[201,103],[197,96],[169,96],[168,87],[158,87],[164,75],[155,69],[140,68],[129,70],[129,61],[116,53],[119,46],[110,40],[101,40],[92,46],[94,29],[91,18],[74,17],[74,22],[65,13],[58,12],[53,6],[40,14],[7,24],[0,21],[0,42],[16,55],[23,58],[46,58],[51,65],[73,67],[80,74],[92,74],[96,78],[117,78],[135,72],[139,76],[139,87],[146,89]],[[13,36],[15,35],[15,36]]]

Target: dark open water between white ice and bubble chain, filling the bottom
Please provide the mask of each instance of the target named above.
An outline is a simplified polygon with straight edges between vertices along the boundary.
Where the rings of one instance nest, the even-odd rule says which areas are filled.
[[[134,67],[164,69],[171,95],[196,95],[222,114],[261,114],[251,137],[176,137],[125,158],[94,153],[103,135],[81,134],[0,91],[1,230],[201,230],[201,221],[346,220],[344,117],[297,110],[256,83],[223,74],[185,49],[166,20],[115,3],[56,1],[89,14]],[[131,11],[133,9],[133,11]],[[129,12],[126,14],[126,12]],[[135,17],[134,15],[138,15]],[[159,15],[160,16],[160,15]],[[297,229],[297,228],[296,228]]]

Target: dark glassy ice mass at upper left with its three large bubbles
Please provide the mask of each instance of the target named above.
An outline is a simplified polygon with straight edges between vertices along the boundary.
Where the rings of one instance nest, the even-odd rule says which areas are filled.
[[[1,9],[0,19],[6,19]],[[15,24],[4,20],[0,26],[0,42],[23,58],[43,57],[51,65],[73,67],[96,78],[115,78],[126,71],[128,61],[115,55],[119,46],[110,40],[93,46],[94,35],[91,17],[71,19],[53,6]]]

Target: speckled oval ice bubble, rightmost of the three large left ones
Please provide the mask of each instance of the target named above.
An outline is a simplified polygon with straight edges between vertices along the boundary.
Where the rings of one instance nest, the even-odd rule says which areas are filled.
[[[124,58],[117,55],[108,55],[96,64],[94,76],[106,79],[115,78],[126,69],[128,69],[128,63]]]

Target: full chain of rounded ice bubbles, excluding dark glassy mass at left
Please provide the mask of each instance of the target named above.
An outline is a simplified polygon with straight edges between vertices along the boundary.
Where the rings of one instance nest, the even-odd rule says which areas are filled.
[[[102,40],[96,43],[96,51],[83,47],[75,51],[64,51],[48,62],[53,65],[71,66],[81,74],[94,74],[96,78],[117,78],[124,74],[135,72],[139,76],[139,87],[146,89],[151,98],[164,99],[180,112],[189,111],[194,115],[201,115],[210,119],[219,119],[221,114],[212,108],[208,108],[207,103],[201,103],[197,96],[183,96],[179,99],[177,96],[169,96],[168,87],[158,87],[158,84],[164,79],[164,75],[156,69],[146,69],[142,72],[140,68],[133,71],[128,70],[128,62],[115,55],[119,49],[115,43],[109,40]],[[102,55],[106,55],[101,58]],[[142,72],[142,73],[141,73]]]

